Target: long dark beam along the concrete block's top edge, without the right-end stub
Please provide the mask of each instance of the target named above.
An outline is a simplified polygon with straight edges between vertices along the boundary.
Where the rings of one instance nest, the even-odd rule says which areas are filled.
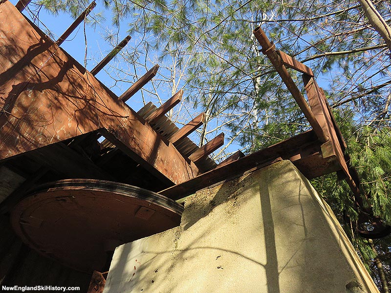
[[[202,173],[181,184],[166,188],[159,193],[177,200],[193,194],[197,190],[217,184],[218,182],[240,177],[248,170],[267,166],[271,164],[270,162],[273,162],[279,157],[287,160],[295,154],[302,152],[303,148],[308,145],[312,148],[313,144],[318,144],[320,151],[319,141],[317,140],[314,131],[309,130],[278,144],[242,157],[225,166]],[[293,164],[295,164],[295,162],[293,162]]]

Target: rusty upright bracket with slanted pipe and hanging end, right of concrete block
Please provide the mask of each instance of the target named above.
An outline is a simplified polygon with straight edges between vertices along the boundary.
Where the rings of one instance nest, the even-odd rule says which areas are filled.
[[[325,160],[337,161],[340,169],[337,171],[338,178],[344,179],[348,183],[353,192],[356,209],[359,211],[358,233],[365,238],[380,238],[390,234],[391,227],[385,225],[379,217],[374,216],[371,208],[364,208],[363,200],[360,196],[360,180],[357,172],[353,167],[349,166],[349,156],[345,154],[345,141],[327,103],[325,93],[316,83],[312,70],[289,55],[276,51],[275,45],[267,39],[260,27],[257,27],[253,33],[261,44],[262,53],[269,58],[276,68],[282,81],[286,84],[314,129],[319,141],[322,142],[322,157]],[[303,73],[309,107],[286,67]],[[294,155],[289,159],[297,164],[301,160],[301,154]],[[372,230],[366,229],[365,225],[367,223],[372,226]]]

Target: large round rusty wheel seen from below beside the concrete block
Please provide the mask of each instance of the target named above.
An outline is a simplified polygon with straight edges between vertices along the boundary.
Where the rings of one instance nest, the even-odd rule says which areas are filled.
[[[152,191],[90,179],[36,188],[11,212],[34,250],[83,272],[100,271],[108,251],[179,225],[183,207]]]

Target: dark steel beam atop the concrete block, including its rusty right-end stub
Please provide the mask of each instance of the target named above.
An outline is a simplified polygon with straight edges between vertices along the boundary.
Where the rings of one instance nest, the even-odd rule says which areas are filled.
[[[159,193],[178,200],[202,188],[232,180],[281,159],[291,160],[308,179],[334,172],[340,168],[336,160],[323,158],[321,143],[314,131],[310,130],[231,161],[222,167],[202,173],[189,181],[164,189]]]

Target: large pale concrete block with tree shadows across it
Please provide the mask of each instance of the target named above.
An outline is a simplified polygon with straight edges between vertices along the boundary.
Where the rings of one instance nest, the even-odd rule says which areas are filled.
[[[378,293],[331,209],[289,161],[185,203],[179,227],[115,250],[104,293]]]

